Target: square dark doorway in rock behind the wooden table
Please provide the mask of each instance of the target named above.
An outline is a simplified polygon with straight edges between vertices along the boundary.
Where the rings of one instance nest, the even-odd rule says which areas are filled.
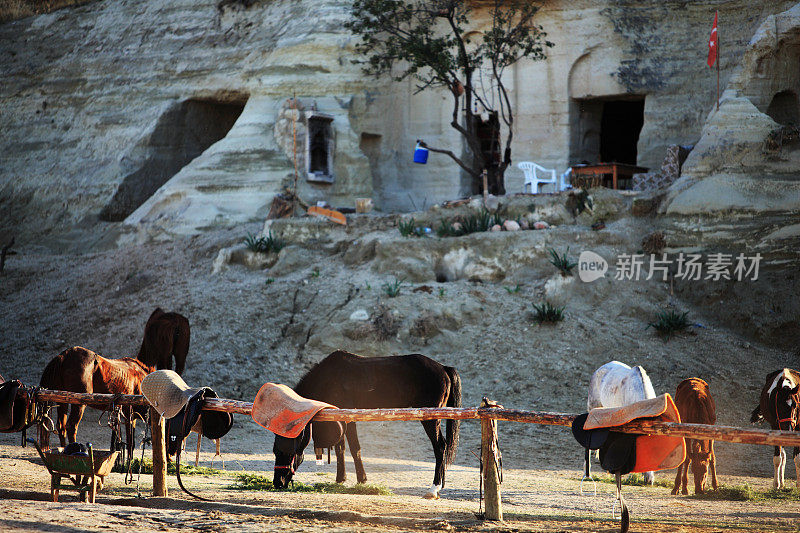
[[[644,97],[576,99],[570,114],[571,164],[636,164]]]

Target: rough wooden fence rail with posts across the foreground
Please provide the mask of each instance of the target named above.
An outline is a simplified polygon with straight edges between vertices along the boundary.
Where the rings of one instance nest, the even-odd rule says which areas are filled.
[[[73,403],[98,406],[103,404],[115,405],[148,405],[144,396],[112,395],[112,394],[84,394],[64,391],[40,389],[36,393],[38,400]],[[224,411],[249,416],[253,404],[226,398],[210,398],[205,400],[203,409]],[[406,409],[323,409],[314,417],[321,422],[377,422],[377,421],[419,421],[435,419],[451,420],[481,420],[508,422],[521,422],[527,424],[542,424],[550,426],[571,426],[576,415],[563,413],[547,413],[537,411],[522,411],[517,409],[504,409],[498,407],[438,407],[438,408],[406,408]],[[159,418],[159,417],[156,417]],[[163,468],[154,470],[153,487],[157,496],[166,495],[166,452],[164,449],[163,423],[158,420],[153,423],[153,456],[164,458]],[[160,429],[159,429],[160,428]],[[675,435],[694,439],[714,439],[742,444],[761,444],[770,446],[800,446],[800,432],[775,431],[765,429],[745,429],[732,426],[711,426],[707,424],[685,424],[676,422],[630,422],[615,428],[623,433],[636,433],[644,435]],[[158,434],[158,435],[157,435]],[[160,437],[160,438],[158,438]],[[156,449],[158,448],[158,449]],[[161,463],[161,461],[158,461]],[[488,463],[487,463],[488,464]],[[159,465],[161,466],[161,465]],[[487,489],[489,485],[487,485]],[[498,494],[493,495],[498,502],[498,508],[492,516],[487,506],[487,518],[502,516],[499,508]],[[489,495],[487,495],[487,504]]]

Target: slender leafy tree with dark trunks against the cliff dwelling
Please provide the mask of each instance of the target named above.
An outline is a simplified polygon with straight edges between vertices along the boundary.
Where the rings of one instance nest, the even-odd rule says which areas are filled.
[[[511,164],[514,136],[503,73],[522,58],[544,59],[553,43],[533,22],[539,7],[529,0],[484,2],[491,3],[491,26],[480,42],[470,42],[471,3],[474,0],[354,0],[347,28],[361,38],[356,52],[364,58],[355,62],[365,73],[389,74],[394,81],[411,77],[418,82],[417,93],[449,90],[450,126],[463,136],[464,154],[427,148],[458,164],[471,177],[473,194],[483,189],[486,170],[489,192],[500,195],[505,194],[503,176]],[[462,108],[471,112],[461,116]]]

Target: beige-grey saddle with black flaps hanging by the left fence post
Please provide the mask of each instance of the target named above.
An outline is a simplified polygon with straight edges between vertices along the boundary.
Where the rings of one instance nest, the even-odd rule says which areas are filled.
[[[178,485],[184,492],[199,500],[209,501],[189,492],[181,481],[181,447],[200,420],[202,434],[209,439],[221,439],[233,426],[233,415],[222,411],[203,411],[206,398],[217,398],[210,387],[189,387],[172,370],[156,370],[142,380],[142,394],[147,402],[167,419],[167,453],[175,455]]]

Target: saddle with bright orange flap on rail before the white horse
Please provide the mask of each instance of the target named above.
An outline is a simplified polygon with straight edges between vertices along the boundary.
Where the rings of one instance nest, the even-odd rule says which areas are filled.
[[[589,450],[600,450],[600,465],[614,474],[617,499],[622,510],[621,531],[630,525],[630,515],[622,497],[622,476],[631,472],[650,472],[676,468],[686,458],[683,437],[636,435],[614,431],[634,420],[680,422],[678,408],[669,394],[642,400],[623,407],[592,409],[575,418],[572,435],[586,449],[586,472],[589,476]]]

